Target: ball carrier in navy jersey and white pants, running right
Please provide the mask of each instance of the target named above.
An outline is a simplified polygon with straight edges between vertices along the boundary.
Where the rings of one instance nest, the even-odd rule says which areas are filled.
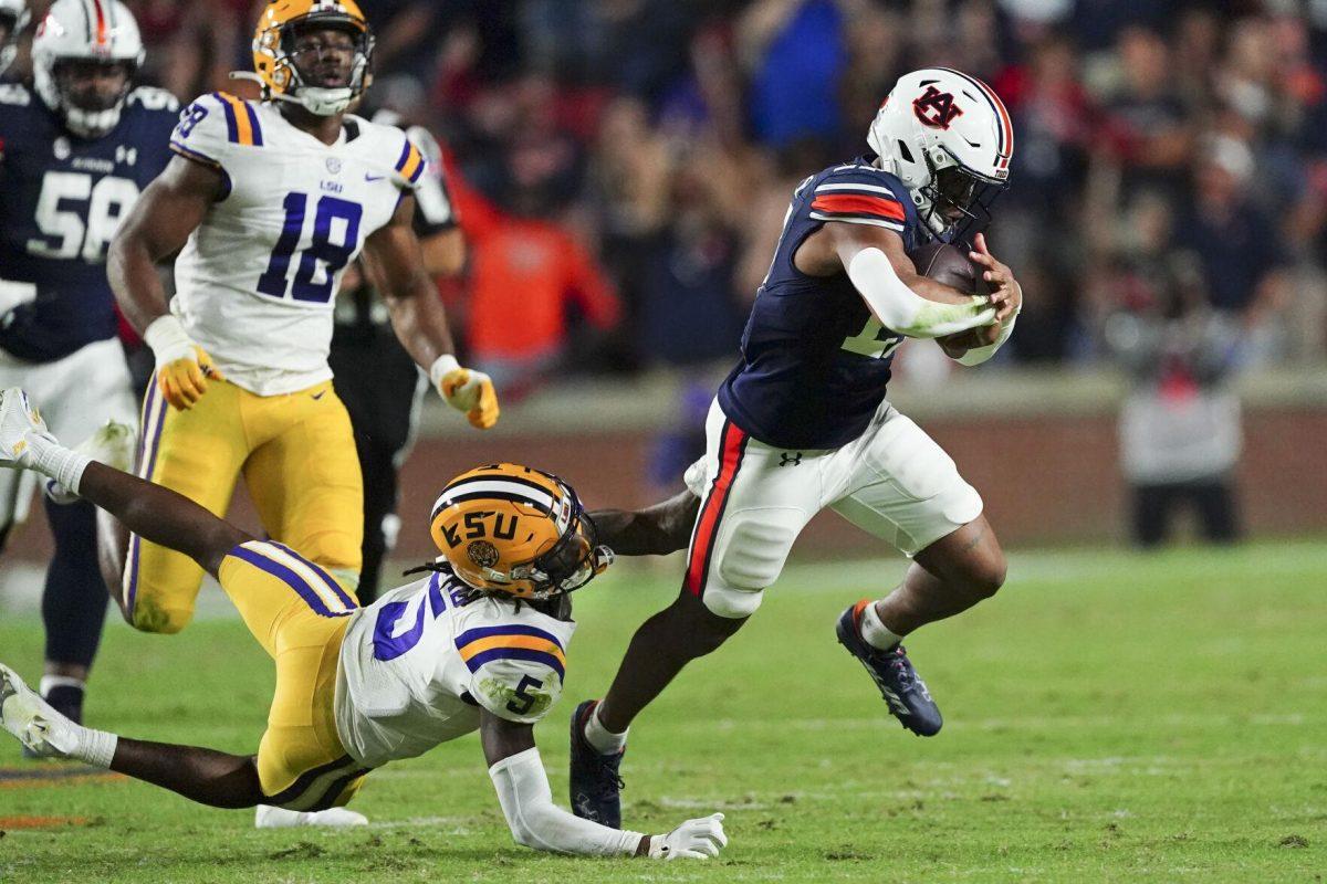
[[[1009,113],[974,77],[917,70],[889,93],[868,142],[871,154],[794,192],[742,359],[710,408],[706,455],[687,470],[702,504],[682,592],[636,632],[604,700],[572,717],[572,807],[589,819],[618,824],[632,720],[755,612],[821,509],[913,559],[902,584],[849,606],[836,631],[916,734],[937,733],[941,714],[904,636],[1005,580],[982,498],[889,404],[885,384],[904,338],[942,339],[947,354],[977,364],[1014,330],[1022,290],[981,233],[970,258],[990,296],[928,280],[908,257],[936,239],[966,241],[987,220],[1009,179]]]

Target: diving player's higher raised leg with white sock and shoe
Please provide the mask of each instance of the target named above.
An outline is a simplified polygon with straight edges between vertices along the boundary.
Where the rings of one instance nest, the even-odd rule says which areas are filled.
[[[253,539],[182,494],[69,451],[16,387],[0,392],[0,467],[54,478],[133,533],[188,555],[212,575],[227,553]]]

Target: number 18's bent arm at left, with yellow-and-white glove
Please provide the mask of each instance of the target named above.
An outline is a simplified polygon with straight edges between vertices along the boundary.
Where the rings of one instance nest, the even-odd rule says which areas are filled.
[[[175,156],[130,209],[106,256],[106,277],[125,318],[157,357],[157,384],[175,408],[190,408],[220,378],[207,353],[167,310],[157,264],[179,252],[207,209],[226,195],[226,176]]]

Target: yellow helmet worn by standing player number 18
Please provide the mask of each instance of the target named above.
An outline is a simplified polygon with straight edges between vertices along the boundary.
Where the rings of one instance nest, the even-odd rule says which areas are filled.
[[[304,28],[338,28],[354,37],[350,85],[312,86],[295,65],[295,36]],[[253,32],[253,70],[263,101],[291,101],[318,117],[340,114],[373,82],[373,32],[354,0],[271,0]],[[238,77],[242,74],[232,74]]]

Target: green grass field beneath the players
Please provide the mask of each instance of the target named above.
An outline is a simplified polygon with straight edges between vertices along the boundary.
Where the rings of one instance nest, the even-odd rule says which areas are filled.
[[[905,733],[833,640],[900,559],[796,566],[743,634],[637,722],[625,822],[727,814],[717,861],[573,860],[516,847],[476,738],[376,773],[369,828],[257,832],[129,781],[0,744],[3,881],[1322,881],[1327,875],[1327,543],[1013,555],[1003,592],[909,641],[946,716]],[[674,571],[583,594],[564,700],[540,726],[565,802],[567,716],[601,692]],[[36,619],[0,659],[36,676]],[[268,661],[238,620],[109,630],[88,716],[249,751]],[[76,822],[33,827],[32,818]]]

